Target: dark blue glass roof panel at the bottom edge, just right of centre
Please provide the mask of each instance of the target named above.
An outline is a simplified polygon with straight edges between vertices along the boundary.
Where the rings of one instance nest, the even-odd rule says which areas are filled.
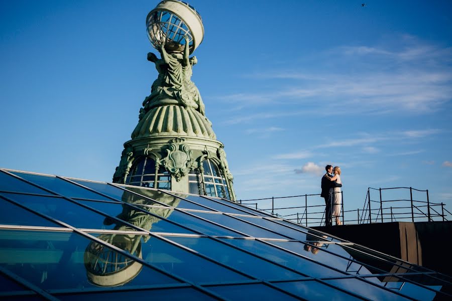
[[[206,288],[231,300],[243,300],[244,296],[248,301],[298,300],[265,284],[219,285]]]

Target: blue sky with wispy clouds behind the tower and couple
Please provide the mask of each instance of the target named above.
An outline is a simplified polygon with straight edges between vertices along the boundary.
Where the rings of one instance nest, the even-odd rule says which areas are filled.
[[[157,74],[157,1],[2,1],[0,167],[110,181]],[[193,81],[239,199],[428,189],[452,207],[452,3],[190,1]],[[322,202],[318,198],[319,203]]]

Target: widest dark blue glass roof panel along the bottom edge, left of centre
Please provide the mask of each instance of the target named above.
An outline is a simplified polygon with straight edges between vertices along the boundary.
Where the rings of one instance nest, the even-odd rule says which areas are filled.
[[[171,287],[159,289],[140,289],[127,291],[101,291],[79,294],[54,294],[64,301],[79,300],[180,300],[181,296],[187,300],[211,300],[212,297],[191,287]]]

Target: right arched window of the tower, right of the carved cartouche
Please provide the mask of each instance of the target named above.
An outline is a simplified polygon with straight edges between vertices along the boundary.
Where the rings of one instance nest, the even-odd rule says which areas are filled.
[[[202,168],[204,181],[202,181],[199,169],[192,170],[188,175],[189,192],[230,200],[228,185],[216,163],[206,159],[202,162]]]

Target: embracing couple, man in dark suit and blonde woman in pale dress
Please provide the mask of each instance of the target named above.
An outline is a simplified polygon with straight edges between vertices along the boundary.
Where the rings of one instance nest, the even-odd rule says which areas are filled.
[[[342,225],[341,205],[342,205],[342,181],[341,168],[336,166],[334,169],[331,165],[325,167],[326,174],[322,177],[322,193],[321,197],[325,199],[325,226],[332,226],[331,217],[334,216],[336,225]],[[332,212],[331,212],[332,211]]]

